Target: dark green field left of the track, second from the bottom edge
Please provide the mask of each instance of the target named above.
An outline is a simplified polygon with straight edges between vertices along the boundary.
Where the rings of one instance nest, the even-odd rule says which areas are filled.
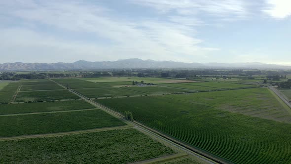
[[[0,137],[74,131],[125,125],[106,112],[96,109],[61,113],[1,116]]]

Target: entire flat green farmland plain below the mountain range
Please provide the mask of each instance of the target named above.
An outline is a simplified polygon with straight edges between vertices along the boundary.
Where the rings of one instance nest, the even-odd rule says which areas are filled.
[[[0,163],[290,164],[291,72],[0,74]]]

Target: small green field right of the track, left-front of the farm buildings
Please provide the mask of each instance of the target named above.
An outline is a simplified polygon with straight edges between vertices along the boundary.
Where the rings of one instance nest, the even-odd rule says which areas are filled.
[[[95,97],[114,97],[114,96],[130,96],[142,95],[143,93],[127,90],[124,88],[111,87],[111,88],[90,88],[90,89],[74,89],[82,95],[90,98]]]

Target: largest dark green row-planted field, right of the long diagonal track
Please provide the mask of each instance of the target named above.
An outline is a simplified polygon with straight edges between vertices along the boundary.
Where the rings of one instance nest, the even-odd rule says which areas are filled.
[[[188,96],[195,94],[198,97],[200,93]],[[290,123],[222,111],[176,100],[175,96],[182,98],[167,95],[96,101],[120,113],[131,111],[135,120],[222,160],[237,164],[291,163]]]

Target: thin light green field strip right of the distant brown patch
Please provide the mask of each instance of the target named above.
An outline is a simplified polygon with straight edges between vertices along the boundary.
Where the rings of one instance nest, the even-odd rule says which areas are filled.
[[[237,84],[237,83],[227,83],[227,82],[189,82],[184,83],[186,85],[198,85],[198,86],[207,86],[214,88],[230,89],[230,88],[242,88],[242,87],[254,87],[254,85],[246,84]]]

